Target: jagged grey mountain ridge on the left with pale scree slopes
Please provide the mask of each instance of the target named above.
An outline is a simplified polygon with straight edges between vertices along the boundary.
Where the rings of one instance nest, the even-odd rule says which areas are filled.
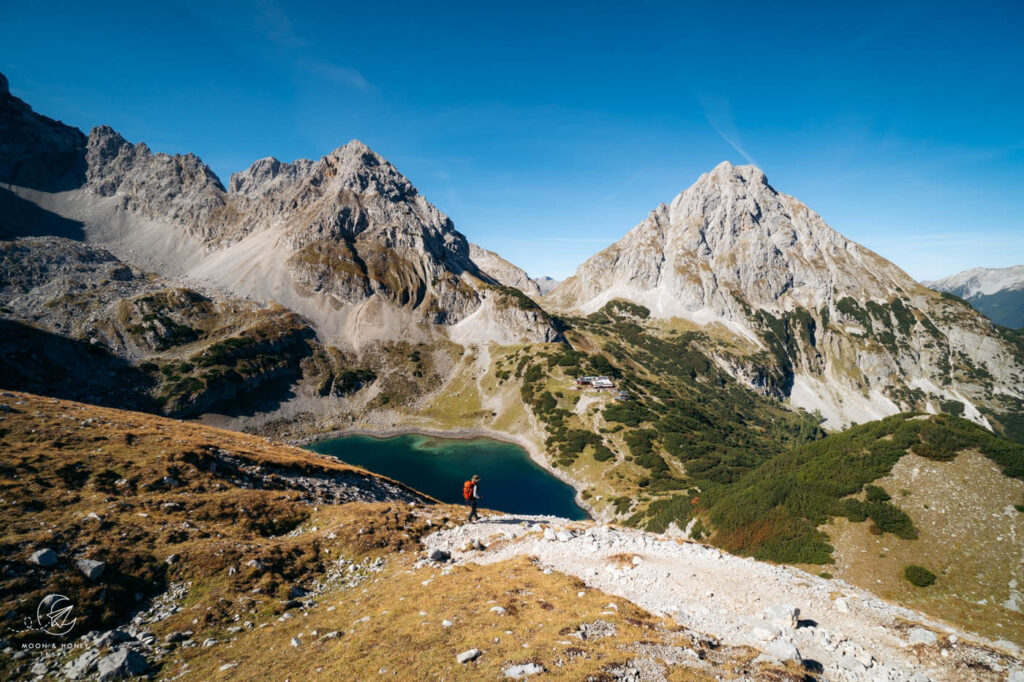
[[[460,338],[559,338],[546,315],[503,314],[465,237],[355,140],[318,161],[257,161],[225,189],[195,155],[154,154],[106,126],[86,136],[4,81],[0,182],[4,236],[84,240],[164,276],[275,301],[341,346],[429,341],[470,316]]]

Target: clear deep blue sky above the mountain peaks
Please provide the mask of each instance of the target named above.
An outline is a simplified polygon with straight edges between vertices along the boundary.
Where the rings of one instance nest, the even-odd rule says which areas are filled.
[[[723,160],[915,278],[1024,262],[1022,3],[554,4],[3,2],[0,71],[225,183],[361,139],[535,275]]]

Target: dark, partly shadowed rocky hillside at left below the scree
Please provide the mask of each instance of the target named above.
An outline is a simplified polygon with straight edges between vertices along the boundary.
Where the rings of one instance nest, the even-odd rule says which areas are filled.
[[[0,243],[0,385],[176,416],[270,398],[265,387],[297,383],[303,361],[326,352],[281,306],[175,287],[58,238]],[[317,374],[333,385],[330,370]]]

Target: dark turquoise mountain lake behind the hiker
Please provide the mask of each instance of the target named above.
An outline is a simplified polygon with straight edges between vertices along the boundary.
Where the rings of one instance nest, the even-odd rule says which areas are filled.
[[[393,438],[345,436],[307,446],[418,491],[465,504],[462,484],[479,474],[480,506],[513,514],[551,514],[585,519],[566,485],[529,459],[519,445],[488,438],[453,439],[423,435]]]

